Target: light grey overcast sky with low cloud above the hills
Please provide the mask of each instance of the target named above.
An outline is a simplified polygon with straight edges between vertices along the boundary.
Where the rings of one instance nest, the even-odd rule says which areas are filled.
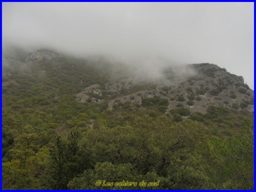
[[[2,39],[127,63],[213,63],[254,89],[253,3],[2,3]]]

